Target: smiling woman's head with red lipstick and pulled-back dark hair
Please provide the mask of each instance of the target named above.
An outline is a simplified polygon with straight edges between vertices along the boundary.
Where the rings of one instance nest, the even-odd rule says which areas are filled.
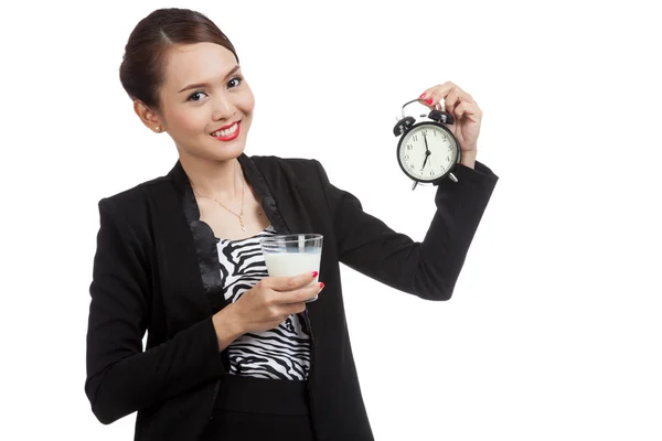
[[[154,32],[159,23],[163,32]],[[186,169],[196,159],[227,161],[244,150],[255,99],[238,63],[229,40],[204,15],[161,10],[131,33],[120,80],[142,122],[172,137]],[[234,142],[220,146],[214,138]],[[234,170],[224,174],[238,178]]]

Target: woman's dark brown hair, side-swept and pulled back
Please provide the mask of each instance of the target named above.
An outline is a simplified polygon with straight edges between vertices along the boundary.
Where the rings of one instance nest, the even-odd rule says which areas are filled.
[[[239,57],[227,36],[204,14],[189,9],[158,9],[136,25],[125,46],[119,80],[131,99],[160,111],[168,50],[178,44],[216,43]]]

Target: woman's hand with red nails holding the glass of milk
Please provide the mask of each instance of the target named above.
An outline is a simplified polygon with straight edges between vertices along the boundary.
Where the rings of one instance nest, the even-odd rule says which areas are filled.
[[[267,331],[278,326],[291,314],[303,312],[305,301],[314,298],[324,287],[323,283],[311,283],[316,278],[317,273],[306,272],[293,277],[261,279],[236,302],[216,313],[214,319],[220,322],[214,320],[216,334],[220,334],[221,327],[234,330],[232,334],[235,338],[248,332]],[[221,335],[218,336],[221,343]]]

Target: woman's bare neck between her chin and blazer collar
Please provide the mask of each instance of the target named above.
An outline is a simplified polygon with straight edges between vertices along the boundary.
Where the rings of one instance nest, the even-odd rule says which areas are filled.
[[[238,159],[201,161],[180,157],[180,162],[195,191],[226,201],[242,197],[244,175]]]

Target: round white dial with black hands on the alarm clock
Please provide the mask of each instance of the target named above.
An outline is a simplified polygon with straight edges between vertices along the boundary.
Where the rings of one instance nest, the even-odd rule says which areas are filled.
[[[447,130],[431,123],[414,126],[398,148],[401,166],[416,181],[431,182],[457,162],[458,146]]]

